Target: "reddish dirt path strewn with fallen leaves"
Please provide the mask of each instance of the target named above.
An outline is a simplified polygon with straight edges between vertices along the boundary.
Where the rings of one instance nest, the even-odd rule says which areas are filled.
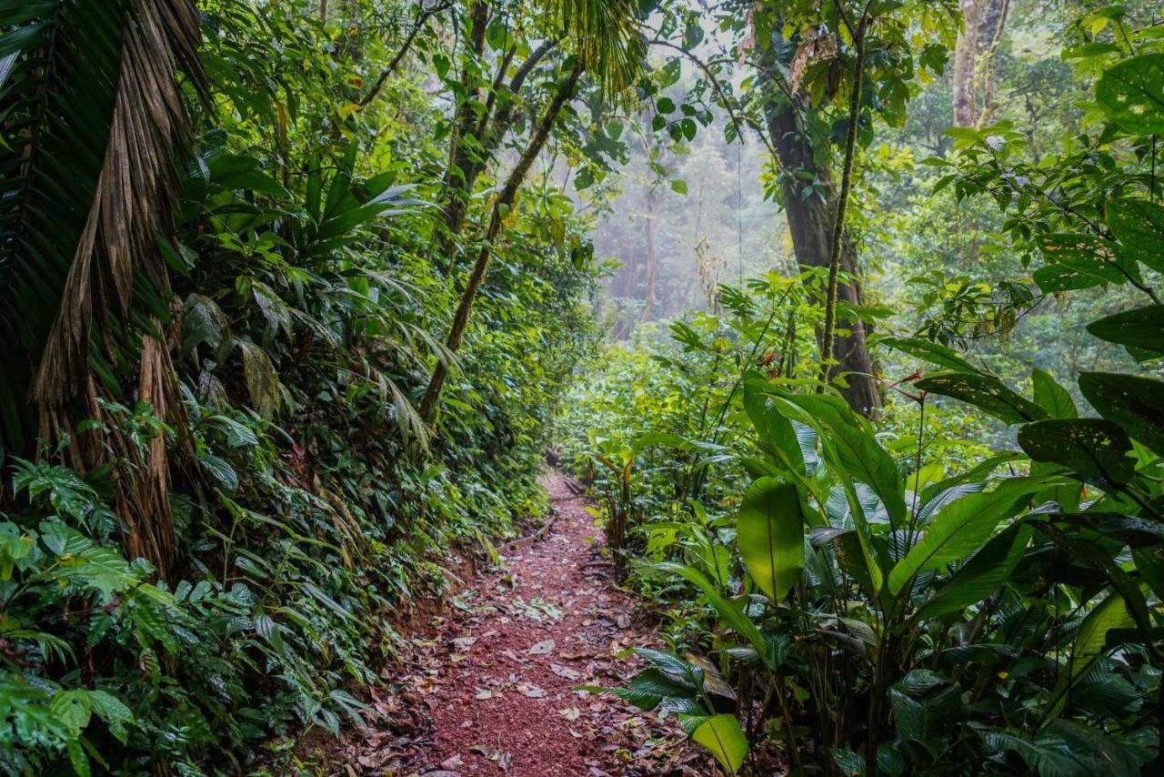
[[[502,551],[411,635],[406,676],[374,692],[369,725],[329,754],[328,774],[717,774],[675,721],[573,690],[622,685],[638,665],[619,654],[661,642],[641,601],[616,586],[582,486],[556,472],[545,485],[546,530]]]

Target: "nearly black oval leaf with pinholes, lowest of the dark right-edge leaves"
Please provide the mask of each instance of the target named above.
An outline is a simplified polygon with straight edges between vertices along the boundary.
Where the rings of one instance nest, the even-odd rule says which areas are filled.
[[[1135,475],[1131,440],[1110,421],[1055,418],[1018,430],[1018,445],[1035,461],[1058,464],[1083,478],[1126,483]]]

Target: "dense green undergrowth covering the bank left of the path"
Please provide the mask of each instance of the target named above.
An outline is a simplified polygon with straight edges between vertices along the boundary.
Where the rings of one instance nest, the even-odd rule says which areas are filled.
[[[5,56],[31,52],[6,72],[9,119],[35,126],[35,90],[71,75],[62,56],[44,80],[38,47],[100,45],[85,5],[34,3],[23,37],[0,24]],[[454,360],[456,288],[433,239],[449,119],[409,70],[360,104],[417,22],[405,6],[322,23],[307,2],[200,5],[210,103],[164,248],[171,292],[91,360],[98,388],[71,430],[33,443],[35,414],[5,407],[0,771],[237,772],[277,735],[359,721],[359,688],[402,644],[393,620],[443,592],[452,556],[544,511],[547,422],[594,341],[580,221],[534,182],[442,414],[423,422],[431,363]],[[71,216],[34,228],[68,234]],[[151,334],[175,407],[121,390]],[[107,464],[72,468],[77,444]],[[118,488],[148,478],[158,445],[178,549],[164,578],[127,545],[149,516]]]

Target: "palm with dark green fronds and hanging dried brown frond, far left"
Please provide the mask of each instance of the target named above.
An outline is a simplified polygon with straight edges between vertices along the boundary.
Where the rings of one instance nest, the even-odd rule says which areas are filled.
[[[116,460],[127,550],[173,555],[164,440],[76,432],[135,397],[166,418],[175,376],[163,240],[187,121],[205,94],[193,0],[0,0],[0,452],[65,444]]]

